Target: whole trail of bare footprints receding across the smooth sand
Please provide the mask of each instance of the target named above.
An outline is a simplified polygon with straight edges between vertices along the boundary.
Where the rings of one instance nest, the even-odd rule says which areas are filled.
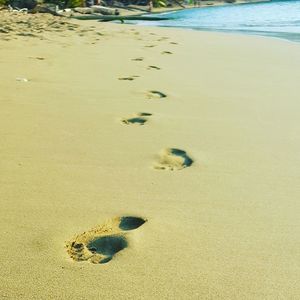
[[[151,34],[151,33],[150,33]],[[154,34],[153,34],[154,35]],[[166,37],[160,38],[158,41],[168,40]],[[170,42],[170,44],[177,44]],[[156,45],[147,45],[145,47],[152,48]],[[161,54],[172,54],[170,51],[163,51]],[[133,58],[132,61],[142,62],[143,57]],[[150,65],[148,69],[160,70],[160,67]],[[132,81],[139,76],[133,75],[128,77],[119,77],[119,80]],[[160,100],[167,98],[167,94],[150,90],[146,94],[149,100]],[[124,125],[145,125],[151,113],[141,112],[129,117],[121,119]],[[182,170],[193,164],[193,159],[181,149],[166,148],[161,151],[153,168],[156,170]],[[111,261],[120,251],[126,249],[129,245],[127,235],[130,231],[141,227],[146,219],[136,216],[116,217],[106,221],[102,225],[98,225],[89,231],[83,232],[75,236],[66,243],[66,249],[69,256],[74,261],[88,261],[93,264],[105,264]]]

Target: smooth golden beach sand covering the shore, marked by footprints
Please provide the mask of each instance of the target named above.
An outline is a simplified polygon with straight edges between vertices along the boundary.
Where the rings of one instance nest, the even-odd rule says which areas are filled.
[[[299,299],[299,44],[32,18],[0,41],[0,298]]]

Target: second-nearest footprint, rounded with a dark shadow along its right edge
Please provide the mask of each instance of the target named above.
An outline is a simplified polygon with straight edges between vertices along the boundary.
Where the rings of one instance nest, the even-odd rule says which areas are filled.
[[[158,170],[182,170],[190,167],[193,164],[193,160],[186,154],[185,151],[168,148],[161,152],[158,163],[154,165]]]

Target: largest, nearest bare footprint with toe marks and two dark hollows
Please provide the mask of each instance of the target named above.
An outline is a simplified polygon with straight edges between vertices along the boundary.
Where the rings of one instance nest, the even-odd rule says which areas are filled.
[[[107,263],[128,247],[127,232],[142,226],[146,221],[132,216],[110,219],[68,241],[67,252],[75,261]]]

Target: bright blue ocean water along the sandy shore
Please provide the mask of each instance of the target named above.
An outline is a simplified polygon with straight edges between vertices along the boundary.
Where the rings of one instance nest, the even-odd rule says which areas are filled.
[[[166,21],[135,22],[141,25],[181,27],[195,30],[222,31],[273,36],[300,42],[300,0],[225,6],[206,6],[158,16]]]

